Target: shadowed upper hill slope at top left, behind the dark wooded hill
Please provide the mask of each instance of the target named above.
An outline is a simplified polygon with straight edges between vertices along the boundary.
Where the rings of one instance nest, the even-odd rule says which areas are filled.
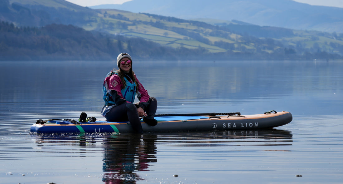
[[[0,0],[0,20],[19,26],[73,24],[93,22],[97,13],[64,0]]]

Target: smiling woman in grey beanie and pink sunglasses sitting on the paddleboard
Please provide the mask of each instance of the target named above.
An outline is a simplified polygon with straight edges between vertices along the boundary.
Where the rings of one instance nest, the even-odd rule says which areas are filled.
[[[105,105],[101,114],[107,121],[129,121],[135,132],[143,132],[140,116],[150,126],[157,125],[154,119],[157,100],[148,95],[147,90],[132,71],[132,58],[127,53],[117,57],[117,71],[111,71],[104,80]],[[139,102],[133,104],[135,96]]]

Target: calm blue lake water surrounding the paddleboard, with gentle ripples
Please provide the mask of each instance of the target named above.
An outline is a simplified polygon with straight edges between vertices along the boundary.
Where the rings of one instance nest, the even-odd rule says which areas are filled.
[[[114,66],[0,62],[0,183],[342,183],[342,61],[133,62],[159,114],[292,112],[272,130],[29,132],[37,119],[104,119]]]

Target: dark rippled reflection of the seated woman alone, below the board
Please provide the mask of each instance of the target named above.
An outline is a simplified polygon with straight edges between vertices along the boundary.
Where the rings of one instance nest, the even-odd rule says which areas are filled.
[[[106,140],[103,157],[103,181],[106,184],[136,183],[142,178],[134,173],[149,171],[149,163],[157,162],[157,136],[127,134]],[[142,142],[142,143],[141,143]]]

